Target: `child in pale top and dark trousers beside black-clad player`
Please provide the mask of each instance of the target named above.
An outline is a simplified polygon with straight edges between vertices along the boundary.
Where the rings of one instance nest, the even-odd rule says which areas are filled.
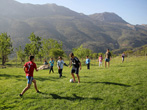
[[[59,60],[57,62],[59,78],[62,77],[63,65],[68,66],[66,63],[64,63],[64,61],[62,60],[62,57],[59,56]]]

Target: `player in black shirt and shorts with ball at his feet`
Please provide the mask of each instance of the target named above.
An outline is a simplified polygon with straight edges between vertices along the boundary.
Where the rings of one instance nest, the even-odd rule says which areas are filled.
[[[82,69],[81,62],[79,61],[77,57],[74,56],[73,53],[70,53],[69,56],[71,57],[70,67],[71,67],[71,64],[73,65],[71,69],[71,75],[73,77],[73,82],[76,81],[75,76],[74,76],[74,73],[76,73],[77,78],[78,78],[78,83],[80,83],[79,68],[80,70]]]

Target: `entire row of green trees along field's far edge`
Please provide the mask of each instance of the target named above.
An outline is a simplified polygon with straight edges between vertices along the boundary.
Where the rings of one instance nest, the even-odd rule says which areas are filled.
[[[39,36],[36,36],[34,32],[30,34],[28,37],[30,43],[27,43],[24,48],[19,46],[16,48],[17,58],[22,62],[25,62],[26,57],[30,55],[34,55],[40,61],[42,59],[49,59],[53,57],[57,60],[58,56],[67,57],[63,50],[63,43],[61,41],[57,41],[55,39],[42,39]],[[10,35],[7,33],[0,34],[0,59],[2,60],[2,65],[4,65],[8,59],[8,55],[14,52],[14,48],[12,46],[12,41]],[[93,53],[92,50],[88,48],[84,48],[83,45],[73,48],[72,52],[75,56],[81,58],[82,60],[89,56],[90,58],[97,59],[99,55],[104,57],[104,53]],[[130,51],[126,51],[126,53],[130,53]],[[143,53],[143,52],[142,52]],[[111,51],[113,56],[116,56]]]

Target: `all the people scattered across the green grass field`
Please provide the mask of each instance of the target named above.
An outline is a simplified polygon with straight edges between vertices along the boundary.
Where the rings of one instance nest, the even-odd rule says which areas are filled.
[[[78,83],[80,83],[80,77],[79,77],[79,69],[81,70],[81,62],[80,60],[74,56],[73,53],[70,53],[69,54],[71,60],[70,60],[70,66],[72,66],[72,69],[71,69],[71,75],[72,75],[72,78],[73,78],[73,82],[76,82],[75,80],[75,76],[74,76],[74,73],[76,74],[77,78],[78,78]],[[122,61],[124,61],[124,53],[122,55]],[[110,66],[110,58],[111,58],[111,53],[109,52],[109,49],[107,49],[107,52],[105,54],[105,67],[106,67],[106,64],[108,63],[108,67]],[[59,60],[57,61],[57,67],[58,67],[58,73],[59,73],[59,77],[61,78],[62,77],[62,70],[63,70],[63,66],[68,66],[66,63],[64,63],[62,57],[59,56],[58,58]],[[37,88],[37,85],[36,85],[36,80],[33,78],[33,73],[34,73],[34,69],[36,71],[38,71],[39,69],[37,69],[37,66],[35,64],[35,57],[34,56],[30,56],[29,58],[29,62],[25,63],[24,65],[24,72],[26,73],[26,78],[27,78],[27,86],[24,88],[24,90],[21,92],[21,94],[19,95],[20,97],[23,96],[23,94],[30,88],[32,82],[34,83],[34,87],[36,89],[36,92],[37,93],[41,93],[38,88]],[[103,61],[103,57],[102,55],[99,56],[98,58],[99,60],[99,66],[102,66],[102,61]],[[86,57],[86,62],[87,64],[87,69],[90,69],[90,59],[88,58],[88,56]],[[49,70],[49,73],[51,73],[51,71],[54,73],[54,70],[53,70],[53,66],[54,66],[54,60],[53,58],[51,58],[51,60],[49,61],[49,64],[50,64],[50,70]],[[44,65],[48,65],[47,61],[45,60],[44,61]]]

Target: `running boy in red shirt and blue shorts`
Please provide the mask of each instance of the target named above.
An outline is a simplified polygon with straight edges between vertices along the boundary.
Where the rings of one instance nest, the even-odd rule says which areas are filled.
[[[40,93],[40,91],[37,89],[36,80],[33,78],[34,69],[38,71],[37,66],[34,63],[34,60],[35,60],[34,56],[30,56],[30,61],[24,65],[24,71],[26,73],[26,78],[28,82],[27,82],[27,86],[24,88],[24,90],[20,94],[20,97],[22,97],[23,94],[31,87],[32,82],[34,83],[36,92]]]

